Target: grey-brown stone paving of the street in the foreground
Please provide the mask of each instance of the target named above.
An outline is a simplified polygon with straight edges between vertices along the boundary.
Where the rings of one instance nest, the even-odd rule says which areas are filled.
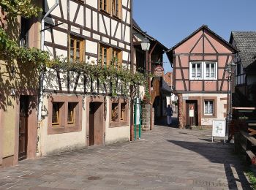
[[[20,161],[0,189],[250,189],[233,145],[211,130],[155,126],[144,140]]]

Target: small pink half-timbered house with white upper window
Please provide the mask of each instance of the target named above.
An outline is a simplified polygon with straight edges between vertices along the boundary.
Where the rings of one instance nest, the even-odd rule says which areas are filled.
[[[208,26],[201,26],[167,52],[173,63],[179,126],[212,126],[227,115],[225,68],[237,50]]]

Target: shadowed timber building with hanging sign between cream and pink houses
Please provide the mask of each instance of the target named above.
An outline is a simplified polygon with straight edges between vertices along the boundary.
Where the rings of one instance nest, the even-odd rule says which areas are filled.
[[[141,43],[143,40],[148,39],[148,50],[142,50]],[[133,60],[135,62],[135,71],[142,72],[148,77],[148,88],[140,86],[138,89],[140,99],[145,104],[142,110],[142,126],[143,130],[150,130],[154,126],[154,118],[157,115],[162,114],[162,110],[165,108],[165,104],[162,104],[165,97],[162,97],[162,77],[164,75],[163,69],[163,55],[167,50],[165,45],[162,45],[157,39],[149,36],[143,31],[138,23],[133,20]],[[158,77],[151,77],[151,75],[158,75]],[[167,89],[168,91],[169,89]],[[146,99],[146,91],[150,94],[150,97]],[[168,91],[170,92],[170,91]],[[164,108],[163,108],[164,107]]]

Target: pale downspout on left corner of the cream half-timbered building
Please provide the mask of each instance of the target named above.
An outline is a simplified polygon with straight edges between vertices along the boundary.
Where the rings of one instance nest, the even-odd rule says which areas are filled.
[[[51,12],[53,12],[53,9],[55,9],[57,6],[59,5],[59,0],[55,1],[55,4],[53,5],[53,7],[51,7],[48,12],[46,12],[46,14],[44,15],[44,17],[42,18],[42,22],[41,22],[41,43],[40,43],[40,49],[44,50],[44,45],[45,45],[45,18],[48,17],[48,15],[50,15]],[[37,153],[40,153],[40,155],[42,154],[41,152],[41,145],[39,145],[39,141],[40,141],[40,135],[41,133],[39,132],[41,124],[42,124],[42,86],[43,86],[43,81],[44,81],[44,72],[42,72],[40,74],[40,79],[39,79],[39,97],[38,97],[38,114],[37,114]]]

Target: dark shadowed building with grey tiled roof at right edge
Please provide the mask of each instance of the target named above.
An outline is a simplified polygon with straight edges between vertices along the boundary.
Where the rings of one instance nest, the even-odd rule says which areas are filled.
[[[255,106],[256,31],[232,31],[230,44],[238,50],[234,58],[236,94],[233,94],[233,104]]]

